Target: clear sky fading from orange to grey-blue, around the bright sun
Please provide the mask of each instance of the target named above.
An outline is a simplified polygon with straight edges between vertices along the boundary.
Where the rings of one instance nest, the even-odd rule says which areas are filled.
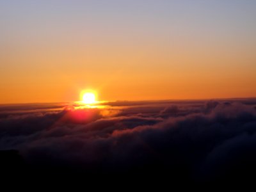
[[[0,1],[0,103],[256,97],[256,1]]]

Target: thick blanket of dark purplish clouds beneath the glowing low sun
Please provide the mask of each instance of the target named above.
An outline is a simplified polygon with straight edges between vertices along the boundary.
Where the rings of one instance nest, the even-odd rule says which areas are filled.
[[[41,172],[168,175],[193,182],[253,177],[253,100],[167,104],[68,106],[7,116],[0,120],[1,150],[19,150],[29,167]]]

